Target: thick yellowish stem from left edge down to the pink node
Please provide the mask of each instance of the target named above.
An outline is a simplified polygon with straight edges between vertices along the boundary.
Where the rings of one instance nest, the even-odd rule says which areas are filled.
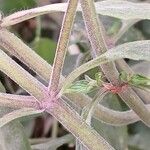
[[[47,98],[46,87],[0,50],[0,70],[39,101]]]

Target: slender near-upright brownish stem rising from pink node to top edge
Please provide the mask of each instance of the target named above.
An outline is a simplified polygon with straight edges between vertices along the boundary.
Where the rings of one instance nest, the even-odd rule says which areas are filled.
[[[68,0],[68,8],[64,15],[64,20],[62,23],[62,28],[57,44],[52,74],[48,86],[48,90],[50,93],[58,90],[60,75],[76,14],[77,4],[78,0]]]

